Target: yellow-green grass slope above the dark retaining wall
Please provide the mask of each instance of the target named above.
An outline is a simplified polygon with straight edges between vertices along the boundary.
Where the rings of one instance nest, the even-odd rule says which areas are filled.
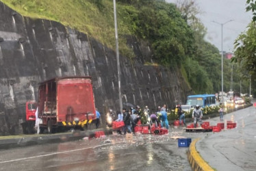
[[[31,18],[57,21],[96,38],[107,47],[115,49],[113,1],[102,0],[0,0],[16,12]],[[119,9],[118,9],[119,8]],[[117,5],[118,16],[122,10]],[[119,24],[118,35],[129,34],[129,24]],[[119,36],[120,53],[133,56],[124,38]]]

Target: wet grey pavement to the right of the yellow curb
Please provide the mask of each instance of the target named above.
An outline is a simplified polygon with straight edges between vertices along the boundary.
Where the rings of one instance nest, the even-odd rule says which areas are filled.
[[[208,134],[196,143],[196,150],[215,170],[256,170],[256,109],[251,106],[224,116],[225,129]],[[227,129],[227,121],[237,124]],[[212,123],[220,122],[217,118]]]

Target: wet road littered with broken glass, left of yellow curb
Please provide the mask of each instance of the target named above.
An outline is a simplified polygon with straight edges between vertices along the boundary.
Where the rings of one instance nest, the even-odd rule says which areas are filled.
[[[183,127],[166,135],[107,135],[90,140],[1,150],[1,170],[191,170],[174,137],[200,137]]]

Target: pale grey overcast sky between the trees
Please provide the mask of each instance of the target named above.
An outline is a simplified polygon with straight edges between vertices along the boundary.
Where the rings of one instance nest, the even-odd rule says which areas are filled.
[[[233,42],[239,34],[246,31],[251,22],[251,12],[246,12],[246,0],[194,0],[199,5],[202,14],[199,15],[207,28],[205,40],[214,44],[221,51],[221,25],[223,25],[223,51],[233,52]],[[166,0],[175,3],[176,0]]]

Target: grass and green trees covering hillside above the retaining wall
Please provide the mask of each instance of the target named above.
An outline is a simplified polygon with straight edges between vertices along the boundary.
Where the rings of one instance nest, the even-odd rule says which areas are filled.
[[[115,49],[112,0],[0,0],[23,16],[46,18],[75,28]],[[220,91],[221,58],[218,49],[203,39],[205,27],[193,1],[179,8],[163,0],[116,1],[120,53],[134,57],[127,36],[149,42],[155,63],[179,68],[195,93]],[[231,64],[225,60],[225,91],[229,90]],[[240,77],[241,78],[241,77]],[[236,79],[234,79],[236,80]],[[235,83],[234,83],[235,84]]]

